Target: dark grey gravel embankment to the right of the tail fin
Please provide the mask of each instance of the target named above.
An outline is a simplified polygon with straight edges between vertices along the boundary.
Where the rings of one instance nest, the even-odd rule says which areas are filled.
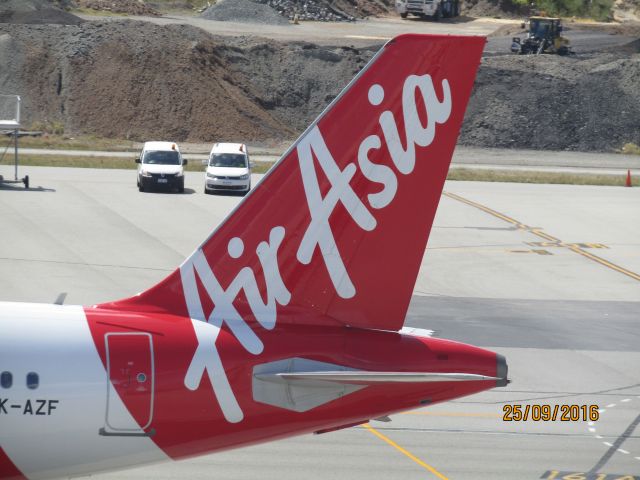
[[[460,141],[578,151],[612,151],[627,142],[637,144],[638,78],[637,53],[485,58]]]

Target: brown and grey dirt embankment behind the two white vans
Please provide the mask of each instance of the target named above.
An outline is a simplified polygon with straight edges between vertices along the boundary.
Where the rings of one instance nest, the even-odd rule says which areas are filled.
[[[184,25],[0,26],[0,88],[25,124],[132,139],[290,138],[370,56],[216,38]]]

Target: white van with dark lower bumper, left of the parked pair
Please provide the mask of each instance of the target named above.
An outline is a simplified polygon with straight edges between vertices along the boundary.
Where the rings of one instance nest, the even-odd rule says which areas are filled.
[[[145,142],[138,164],[138,190],[144,192],[162,188],[184,192],[184,165],[178,145],[174,142]]]

